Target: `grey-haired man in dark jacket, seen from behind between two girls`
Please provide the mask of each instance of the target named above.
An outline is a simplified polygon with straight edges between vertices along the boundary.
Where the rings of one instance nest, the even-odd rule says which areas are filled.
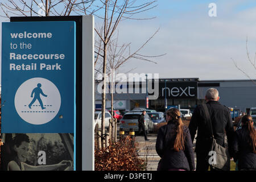
[[[234,129],[232,118],[228,107],[223,106],[218,102],[218,90],[210,88],[205,94],[206,105],[209,110],[210,120],[212,122],[212,130],[216,142],[225,147],[224,137],[225,132],[228,138],[229,153],[232,156],[232,140],[234,136]],[[189,123],[189,131],[191,134],[192,142],[196,138],[196,170],[207,171],[209,168],[209,151],[212,145],[210,139],[210,127],[208,126],[207,119],[202,105],[198,105],[193,112],[191,121]],[[211,169],[212,170],[212,169]]]

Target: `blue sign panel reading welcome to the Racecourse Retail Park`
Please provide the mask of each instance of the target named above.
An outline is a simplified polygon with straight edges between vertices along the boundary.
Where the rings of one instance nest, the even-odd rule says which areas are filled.
[[[76,23],[2,23],[2,133],[74,133]]]

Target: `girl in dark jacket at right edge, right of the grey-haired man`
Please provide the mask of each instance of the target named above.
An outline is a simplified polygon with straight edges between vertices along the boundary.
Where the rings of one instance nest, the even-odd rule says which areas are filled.
[[[242,117],[242,128],[234,137],[234,162],[238,160],[238,170],[256,171],[256,131],[251,115]]]

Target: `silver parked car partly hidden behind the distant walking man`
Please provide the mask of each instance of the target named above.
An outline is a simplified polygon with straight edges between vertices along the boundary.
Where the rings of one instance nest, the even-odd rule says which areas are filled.
[[[120,121],[120,129],[123,129],[123,131],[130,131],[130,129],[133,129],[135,132],[139,131],[138,119],[141,114],[142,112],[129,112],[124,114]],[[144,118],[146,133],[153,132],[154,124],[147,113],[144,115]]]

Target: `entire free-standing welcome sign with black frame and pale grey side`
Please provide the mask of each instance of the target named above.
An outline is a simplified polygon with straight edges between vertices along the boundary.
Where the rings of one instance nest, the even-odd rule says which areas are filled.
[[[91,15],[11,17],[2,23],[1,132],[6,141],[27,136],[32,147],[61,141],[69,157],[53,165],[65,163],[60,170],[94,169],[93,26]],[[52,156],[44,157],[36,167],[53,163]]]

